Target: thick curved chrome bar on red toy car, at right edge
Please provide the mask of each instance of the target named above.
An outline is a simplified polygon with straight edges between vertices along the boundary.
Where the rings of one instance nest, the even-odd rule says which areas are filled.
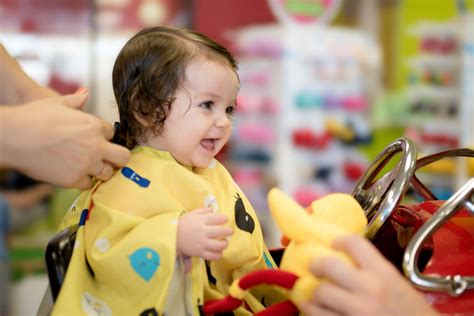
[[[403,256],[403,271],[416,287],[429,291],[447,292],[452,296],[459,296],[468,289],[474,289],[474,276],[432,277],[421,274],[417,267],[421,245],[434,231],[463,207],[474,216],[473,197],[474,178],[471,178],[426,221],[410,240]]]

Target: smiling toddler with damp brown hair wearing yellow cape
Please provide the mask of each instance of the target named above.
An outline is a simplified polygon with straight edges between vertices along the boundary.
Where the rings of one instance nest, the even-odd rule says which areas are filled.
[[[199,315],[235,279],[275,268],[245,194],[214,157],[232,132],[236,61],[206,36],[147,28],[113,69],[116,141],[130,162],[83,192],[80,223],[53,314]],[[260,287],[238,314],[279,301]]]

